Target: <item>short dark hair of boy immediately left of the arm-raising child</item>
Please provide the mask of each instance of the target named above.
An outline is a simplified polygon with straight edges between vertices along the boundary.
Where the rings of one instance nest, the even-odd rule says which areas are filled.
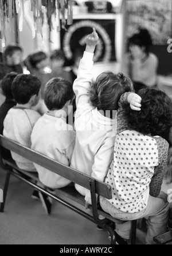
[[[52,78],[45,86],[44,99],[49,110],[61,110],[73,96],[72,84],[65,79]]]

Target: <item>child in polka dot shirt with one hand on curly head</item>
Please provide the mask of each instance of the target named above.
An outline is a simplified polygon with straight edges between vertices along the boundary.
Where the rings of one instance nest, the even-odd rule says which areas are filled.
[[[100,204],[119,220],[147,217],[147,244],[155,244],[154,236],[165,233],[167,228],[169,203],[167,195],[160,192],[169,144],[161,133],[171,123],[171,100],[165,92],[147,88],[138,95],[122,96],[114,161],[105,179],[112,186],[113,198],[100,198]],[[117,234],[125,239],[130,237],[128,225],[131,227],[130,221],[116,225]]]

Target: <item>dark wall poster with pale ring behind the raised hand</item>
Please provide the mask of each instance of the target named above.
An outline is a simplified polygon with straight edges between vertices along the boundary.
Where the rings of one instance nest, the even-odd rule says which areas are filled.
[[[85,50],[85,37],[96,28],[99,43],[95,51],[95,62],[116,61],[115,20],[73,20],[68,31],[61,31],[61,47],[70,62],[73,57],[82,57]]]

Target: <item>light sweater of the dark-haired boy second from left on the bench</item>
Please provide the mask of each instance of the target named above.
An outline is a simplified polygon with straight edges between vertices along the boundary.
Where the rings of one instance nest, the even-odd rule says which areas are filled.
[[[35,123],[41,117],[38,112],[25,108],[11,108],[4,121],[3,135],[10,140],[31,148],[31,134]],[[19,168],[25,171],[35,172],[33,163],[22,156],[11,152],[11,155]]]

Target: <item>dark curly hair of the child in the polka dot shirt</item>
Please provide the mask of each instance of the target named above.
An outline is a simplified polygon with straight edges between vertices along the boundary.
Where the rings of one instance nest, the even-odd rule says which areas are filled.
[[[156,88],[146,88],[138,92],[142,98],[141,111],[124,107],[124,115],[130,129],[145,135],[160,135],[169,132],[172,126],[172,103],[165,92]]]

